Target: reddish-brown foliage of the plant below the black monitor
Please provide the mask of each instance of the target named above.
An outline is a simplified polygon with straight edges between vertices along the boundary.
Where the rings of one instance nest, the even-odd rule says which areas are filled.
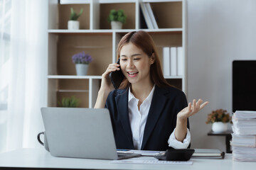
[[[208,114],[208,118],[206,121],[206,124],[208,123],[215,123],[215,122],[223,122],[223,123],[229,123],[231,120],[231,117],[227,111],[223,109],[218,109],[216,111],[212,111],[212,113]]]

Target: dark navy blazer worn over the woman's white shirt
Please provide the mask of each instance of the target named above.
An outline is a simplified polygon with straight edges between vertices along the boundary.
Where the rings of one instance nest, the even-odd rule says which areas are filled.
[[[117,149],[134,149],[128,113],[128,89],[116,89],[107,97]],[[168,140],[176,127],[176,115],[188,106],[183,91],[174,87],[155,87],[146,120],[142,150],[169,149]],[[189,123],[188,123],[189,128]]]

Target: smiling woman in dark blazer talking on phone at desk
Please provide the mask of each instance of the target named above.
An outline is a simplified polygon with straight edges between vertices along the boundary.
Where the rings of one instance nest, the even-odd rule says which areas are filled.
[[[159,55],[145,31],[127,33],[117,47],[120,64],[102,74],[95,108],[108,108],[118,149],[166,150],[190,144],[188,117],[208,102],[186,101],[182,91],[170,86],[161,71]],[[120,68],[124,74],[119,89],[109,78]]]

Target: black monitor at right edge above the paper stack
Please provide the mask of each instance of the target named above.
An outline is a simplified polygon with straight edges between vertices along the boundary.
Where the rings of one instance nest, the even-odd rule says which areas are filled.
[[[233,61],[233,113],[256,111],[256,60]]]

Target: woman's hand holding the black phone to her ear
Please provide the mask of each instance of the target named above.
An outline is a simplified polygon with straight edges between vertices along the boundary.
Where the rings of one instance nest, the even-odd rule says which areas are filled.
[[[114,90],[114,86],[110,80],[110,72],[115,72],[119,70],[119,64],[112,63],[109,64],[106,71],[102,74],[102,82],[100,86],[100,91],[105,91],[107,93],[110,93],[110,91]]]

